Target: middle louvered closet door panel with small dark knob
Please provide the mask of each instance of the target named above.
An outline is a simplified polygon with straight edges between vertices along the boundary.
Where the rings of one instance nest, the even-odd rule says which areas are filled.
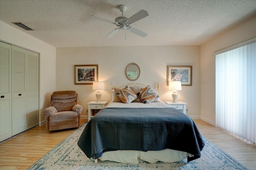
[[[27,130],[27,50],[12,46],[12,135]]]

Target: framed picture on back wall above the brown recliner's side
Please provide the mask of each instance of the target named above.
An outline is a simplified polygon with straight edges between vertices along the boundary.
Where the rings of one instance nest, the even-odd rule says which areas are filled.
[[[75,84],[92,84],[98,81],[98,65],[74,65]]]

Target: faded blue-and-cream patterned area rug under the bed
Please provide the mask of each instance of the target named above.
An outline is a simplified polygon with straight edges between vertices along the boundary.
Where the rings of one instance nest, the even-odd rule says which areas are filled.
[[[205,137],[201,158],[189,163],[186,159],[174,163],[141,161],[135,165],[100,160],[95,163],[77,145],[86,124],[80,126],[28,170],[248,170]]]

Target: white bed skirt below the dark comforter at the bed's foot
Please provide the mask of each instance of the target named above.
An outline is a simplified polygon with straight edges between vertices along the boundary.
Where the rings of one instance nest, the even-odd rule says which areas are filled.
[[[111,160],[115,162],[121,163],[129,163],[129,164],[138,164],[140,160],[144,160],[146,162],[154,163],[157,161],[161,162],[177,162],[187,158],[187,152],[182,152],[178,150],[165,149],[159,151],[138,151],[138,150],[116,150],[104,152],[102,156],[98,159]],[[94,159],[97,163],[98,159]]]

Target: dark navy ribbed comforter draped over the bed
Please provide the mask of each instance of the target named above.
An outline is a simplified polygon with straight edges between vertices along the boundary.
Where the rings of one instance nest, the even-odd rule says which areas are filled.
[[[200,158],[204,141],[192,119],[175,108],[104,108],[86,125],[78,146],[88,158],[113,150],[174,149]]]

